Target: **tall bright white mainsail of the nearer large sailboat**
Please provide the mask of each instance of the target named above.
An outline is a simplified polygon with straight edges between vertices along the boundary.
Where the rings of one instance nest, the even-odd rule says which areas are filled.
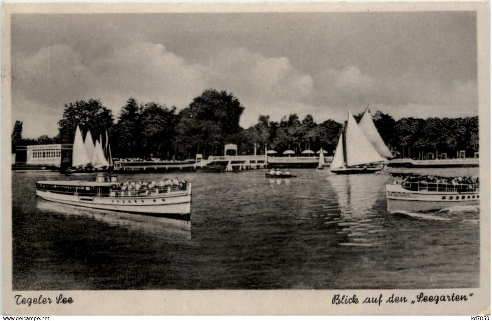
[[[354,116],[348,112],[346,136],[347,166],[356,166],[374,162],[384,161],[379,153],[372,147],[366,135],[357,126]]]

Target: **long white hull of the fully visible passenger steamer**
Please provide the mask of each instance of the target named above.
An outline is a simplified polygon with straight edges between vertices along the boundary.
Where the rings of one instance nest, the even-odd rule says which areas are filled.
[[[151,214],[189,215],[191,213],[191,184],[187,191],[146,197],[79,196],[36,190],[36,195],[52,202],[100,210]]]

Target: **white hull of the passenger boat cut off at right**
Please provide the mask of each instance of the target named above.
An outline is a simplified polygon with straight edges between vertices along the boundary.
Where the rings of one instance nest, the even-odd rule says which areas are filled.
[[[400,185],[386,185],[388,212],[425,212],[452,206],[479,205],[480,193],[410,191]]]

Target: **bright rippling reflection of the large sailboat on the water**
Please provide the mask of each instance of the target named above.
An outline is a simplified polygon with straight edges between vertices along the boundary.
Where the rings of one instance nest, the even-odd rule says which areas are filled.
[[[385,179],[380,175],[329,175],[326,177],[338,204],[333,206],[339,219],[332,222],[346,235],[339,243],[344,246],[372,246],[384,236],[385,218],[375,210],[376,202],[384,196]]]

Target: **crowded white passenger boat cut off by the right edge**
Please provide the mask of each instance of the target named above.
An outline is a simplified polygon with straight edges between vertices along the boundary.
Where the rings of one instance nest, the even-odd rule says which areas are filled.
[[[479,205],[478,184],[404,183],[386,185],[388,212],[422,212]]]

